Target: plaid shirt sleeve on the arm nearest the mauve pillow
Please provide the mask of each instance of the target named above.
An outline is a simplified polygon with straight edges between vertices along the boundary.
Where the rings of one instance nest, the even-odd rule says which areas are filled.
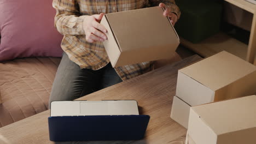
[[[83,20],[86,15],[80,14],[77,0],[54,0],[56,9],[54,25],[62,35],[85,35]]]

